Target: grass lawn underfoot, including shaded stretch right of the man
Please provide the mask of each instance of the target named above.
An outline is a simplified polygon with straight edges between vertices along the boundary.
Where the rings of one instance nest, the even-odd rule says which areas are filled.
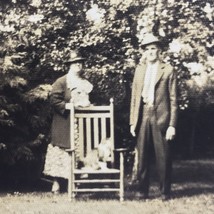
[[[172,199],[162,202],[156,183],[151,187],[151,199],[135,200],[134,192],[126,191],[126,200],[88,196],[68,201],[67,194],[48,192],[2,193],[0,213],[3,214],[213,214],[214,213],[214,159],[176,161],[174,163]]]

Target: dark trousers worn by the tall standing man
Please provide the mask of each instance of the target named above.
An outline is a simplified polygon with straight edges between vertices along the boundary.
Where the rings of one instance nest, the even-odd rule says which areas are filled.
[[[140,191],[149,193],[149,174],[151,168],[152,152],[156,159],[156,167],[160,181],[161,194],[169,195],[171,188],[171,142],[165,139],[166,133],[161,133],[157,123],[153,106],[144,104],[140,118],[139,132],[137,135],[138,150],[138,180]]]

